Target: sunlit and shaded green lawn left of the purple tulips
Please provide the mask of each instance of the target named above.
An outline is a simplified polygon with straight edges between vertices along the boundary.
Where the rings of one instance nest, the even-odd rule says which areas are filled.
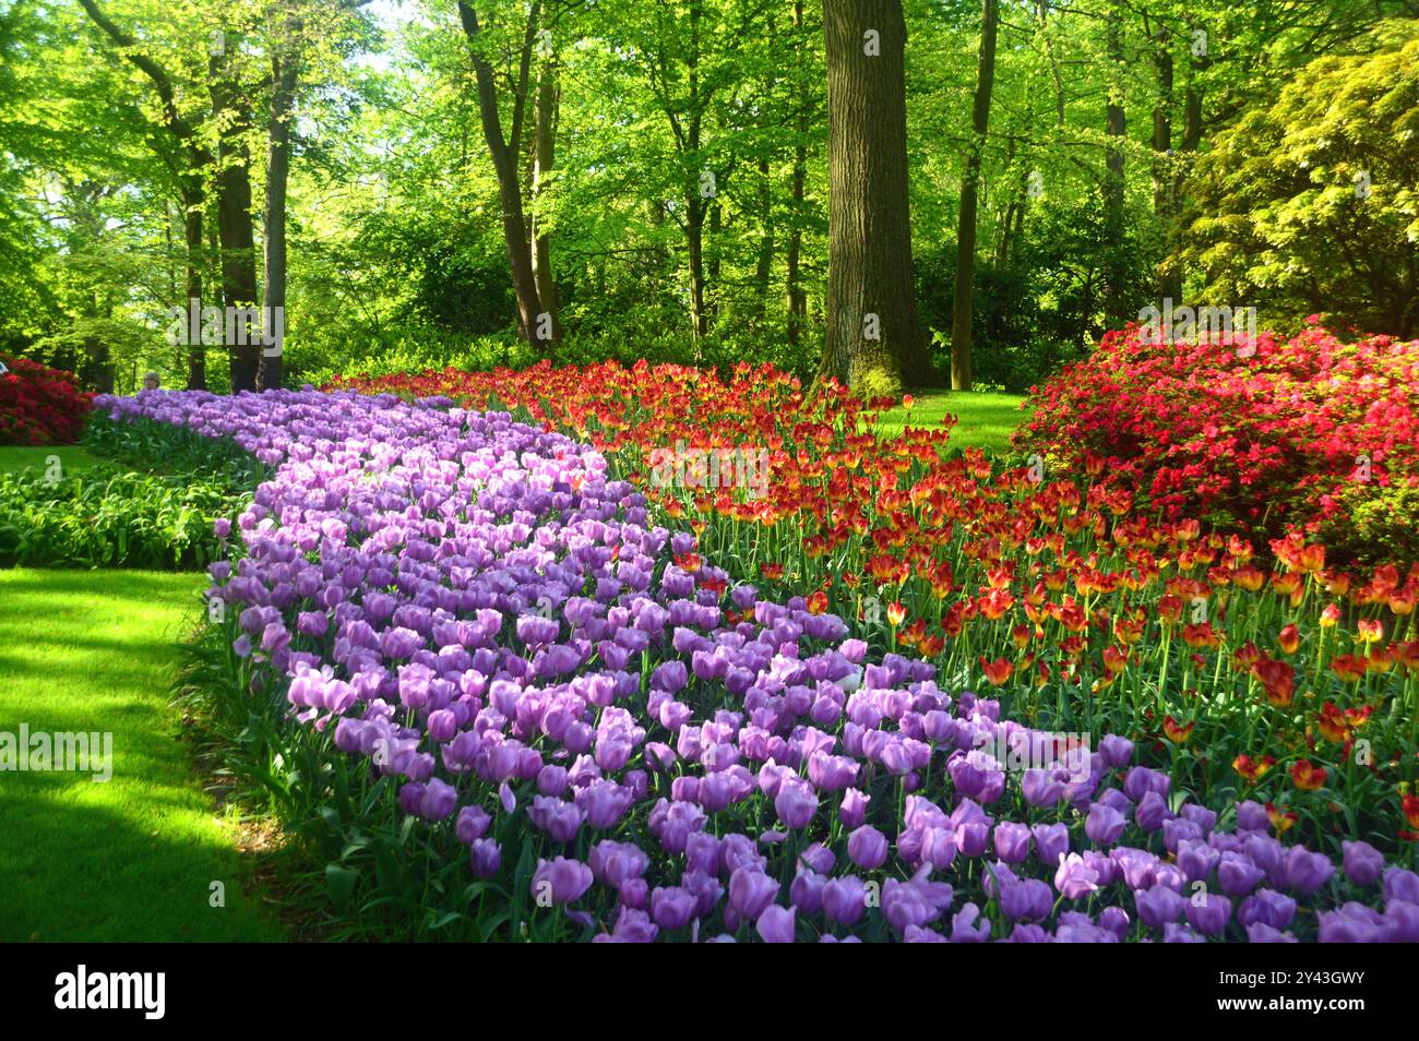
[[[0,772],[0,940],[270,940],[169,688],[199,574],[0,570],[0,732],[111,732],[112,779]],[[226,906],[210,906],[213,882]]]

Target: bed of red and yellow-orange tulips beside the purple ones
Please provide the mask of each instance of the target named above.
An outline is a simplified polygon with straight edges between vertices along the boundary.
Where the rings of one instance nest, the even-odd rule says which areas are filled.
[[[1403,848],[1419,834],[1416,567],[1327,567],[1300,535],[1263,560],[1244,538],[1159,520],[1101,467],[946,460],[945,431],[858,435],[867,404],[805,401],[766,367],[721,382],[542,364],[342,386],[518,407],[586,438],[735,580],[806,593],[1037,728],[1124,735],[1203,801],[1274,804],[1335,855],[1344,835]],[[766,451],[766,494],[657,481],[657,452],[677,445]]]

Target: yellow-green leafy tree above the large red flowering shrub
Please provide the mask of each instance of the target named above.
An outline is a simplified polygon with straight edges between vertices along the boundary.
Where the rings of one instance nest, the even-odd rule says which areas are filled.
[[[1419,24],[1318,58],[1198,163],[1182,260],[1213,302],[1419,330]]]

